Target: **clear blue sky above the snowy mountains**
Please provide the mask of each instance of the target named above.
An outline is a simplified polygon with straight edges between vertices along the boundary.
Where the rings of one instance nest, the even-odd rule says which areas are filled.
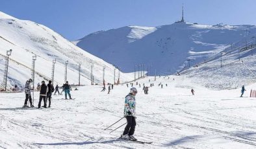
[[[181,19],[256,25],[255,0],[1,0],[0,11],[43,24],[68,40],[127,25],[155,27]]]

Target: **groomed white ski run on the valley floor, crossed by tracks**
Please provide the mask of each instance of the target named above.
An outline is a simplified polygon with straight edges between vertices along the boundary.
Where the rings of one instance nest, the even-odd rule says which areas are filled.
[[[109,95],[101,86],[84,86],[71,91],[75,100],[53,95],[47,109],[22,109],[24,93],[1,93],[0,148],[256,148],[256,99],[247,98],[249,88],[240,98],[239,89],[212,91],[183,76],[150,79],[139,81],[154,83],[149,95],[135,86],[134,136],[152,144],[118,139],[124,126],[109,133],[125,119],[104,130],[123,117],[130,85],[114,86]]]

